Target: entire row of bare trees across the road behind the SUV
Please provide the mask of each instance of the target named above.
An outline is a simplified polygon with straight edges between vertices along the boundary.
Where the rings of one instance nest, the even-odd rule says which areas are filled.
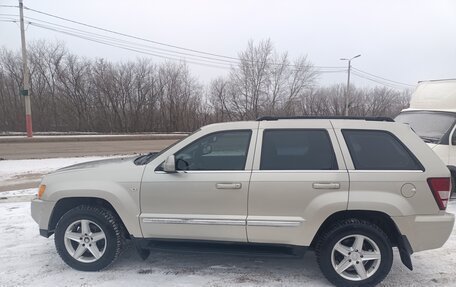
[[[70,53],[63,44],[29,47],[35,131],[172,132],[261,115],[341,115],[345,86],[318,87],[305,58],[291,61],[271,42],[248,44],[228,76],[204,87],[185,63],[112,63]],[[24,129],[21,59],[0,50],[0,132]],[[394,116],[408,95],[351,89],[353,115]]]

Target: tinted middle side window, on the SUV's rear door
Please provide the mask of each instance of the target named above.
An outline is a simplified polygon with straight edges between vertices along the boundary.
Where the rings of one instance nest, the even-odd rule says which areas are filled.
[[[337,169],[326,130],[265,130],[262,170]]]

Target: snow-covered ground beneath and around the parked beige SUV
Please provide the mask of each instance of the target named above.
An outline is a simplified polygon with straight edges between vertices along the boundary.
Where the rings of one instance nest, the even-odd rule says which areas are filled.
[[[61,261],[53,237],[38,235],[28,202],[0,203],[0,217],[0,286],[329,286],[312,252],[297,258],[169,249],[142,261],[129,247],[108,270],[78,272]],[[456,286],[455,254],[455,231],[443,248],[414,254],[414,271],[395,252],[381,286]]]

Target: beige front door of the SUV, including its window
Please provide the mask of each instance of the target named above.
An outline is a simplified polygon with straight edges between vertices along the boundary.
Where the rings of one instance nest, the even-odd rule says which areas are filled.
[[[203,134],[174,153],[176,173],[151,162],[141,184],[144,237],[245,242],[256,127]]]

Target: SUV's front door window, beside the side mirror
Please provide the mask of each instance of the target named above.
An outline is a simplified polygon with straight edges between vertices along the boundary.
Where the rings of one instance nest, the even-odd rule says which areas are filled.
[[[177,170],[243,170],[251,131],[206,135],[176,153]]]

